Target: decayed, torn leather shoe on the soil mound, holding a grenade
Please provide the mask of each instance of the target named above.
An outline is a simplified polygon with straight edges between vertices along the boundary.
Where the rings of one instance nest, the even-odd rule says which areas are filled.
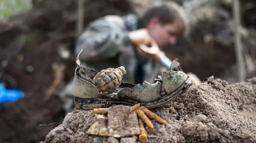
[[[84,68],[80,65],[79,57],[82,51],[76,58],[77,67],[75,70],[75,80],[74,80],[74,101],[76,109],[94,109],[98,107],[109,107],[112,104],[124,104],[124,105],[134,105],[140,103],[141,106],[146,108],[155,108],[162,105],[166,105],[175,98],[187,91],[190,88],[193,81],[180,69],[180,63],[175,59],[170,66],[170,70],[163,73],[163,76],[158,76],[159,79],[155,79],[154,83],[148,83],[144,81],[143,85],[137,84],[133,85],[130,83],[113,83],[110,84],[111,76],[109,74],[112,71],[106,73],[98,74],[97,71],[92,69]],[[121,74],[125,74],[126,71],[124,67],[122,69],[116,70],[116,73],[112,75],[113,79],[115,77],[123,77]],[[103,70],[104,71],[104,70]],[[118,72],[119,71],[119,72]],[[123,72],[123,73],[122,73]],[[102,72],[99,72],[102,73]],[[104,81],[105,89],[111,88],[110,92],[104,91],[104,93],[99,91],[97,88],[97,80],[95,76],[106,77]],[[115,77],[114,77],[115,76]],[[94,82],[93,82],[94,79]],[[102,82],[103,81],[98,81]],[[108,82],[106,84],[106,82]],[[116,85],[119,85],[117,87]],[[98,84],[99,85],[99,84]],[[113,90],[113,87],[115,89]]]

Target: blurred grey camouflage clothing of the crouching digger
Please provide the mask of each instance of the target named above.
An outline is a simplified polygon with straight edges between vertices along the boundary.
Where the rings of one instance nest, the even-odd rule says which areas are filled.
[[[127,73],[123,82],[153,82],[160,75],[158,65],[137,53],[127,33],[138,29],[138,17],[134,14],[126,16],[107,15],[89,23],[80,35],[76,47],[76,55],[83,48],[80,61],[87,68],[101,71],[106,68],[124,66]]]

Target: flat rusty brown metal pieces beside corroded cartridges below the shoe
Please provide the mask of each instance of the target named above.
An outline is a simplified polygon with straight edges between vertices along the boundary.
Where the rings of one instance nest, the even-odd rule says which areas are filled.
[[[87,134],[116,138],[140,134],[137,116],[135,112],[130,113],[129,106],[116,105],[104,109],[108,109],[107,116],[95,115],[95,122]]]

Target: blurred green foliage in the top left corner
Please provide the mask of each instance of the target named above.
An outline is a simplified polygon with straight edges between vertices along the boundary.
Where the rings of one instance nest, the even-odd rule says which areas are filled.
[[[0,0],[0,19],[25,12],[31,7],[31,0]]]

